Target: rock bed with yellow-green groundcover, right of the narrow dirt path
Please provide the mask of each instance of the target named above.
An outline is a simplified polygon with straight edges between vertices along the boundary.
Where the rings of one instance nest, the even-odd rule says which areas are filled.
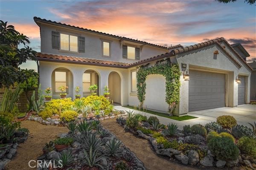
[[[140,117],[138,116],[138,114],[139,113],[136,113],[136,116],[133,117],[137,117],[138,119],[138,117]],[[124,127],[126,131],[134,133],[134,135],[140,136],[144,139],[147,139],[153,146],[154,151],[157,153],[157,155],[165,156],[169,160],[178,161],[184,165],[194,165],[198,167],[230,168],[235,166],[245,166],[247,169],[256,169],[256,159],[248,156],[247,154],[241,153],[240,150],[237,159],[223,161],[221,159],[217,159],[217,157],[213,153],[211,153],[207,146],[205,136],[201,136],[198,134],[185,135],[183,130],[177,129],[177,132],[174,136],[168,137],[163,133],[165,129],[168,129],[167,127],[155,130],[152,124],[148,123],[148,120],[146,118],[146,121],[139,121],[137,126],[135,126],[136,123],[134,123],[134,120],[129,120],[129,125],[127,125],[127,120],[133,119],[131,117],[131,113],[128,113],[128,117],[119,117],[116,119],[116,122]],[[159,124],[159,126],[161,125]],[[144,131],[144,133],[142,131]],[[161,141],[166,142],[161,143]],[[172,148],[172,141],[177,141],[177,143],[174,142],[175,149]],[[199,142],[197,144],[193,144],[193,141]],[[170,146],[166,147],[165,144],[169,144]]]

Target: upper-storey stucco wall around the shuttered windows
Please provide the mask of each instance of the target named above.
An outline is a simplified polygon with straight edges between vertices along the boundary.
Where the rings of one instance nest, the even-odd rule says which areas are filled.
[[[58,31],[64,34],[72,34],[75,36],[85,37],[85,53],[78,52],[67,52],[57,49],[52,49],[52,31]],[[46,24],[41,24],[41,52],[48,54],[58,54],[74,57],[85,57],[85,58],[95,58],[119,62],[136,62],[134,59],[123,59],[122,58],[122,46],[120,45],[119,39],[111,38],[107,36],[102,36],[99,34],[87,33],[84,31],[77,31],[69,28],[56,27]],[[102,57],[102,40],[111,41],[111,57]],[[133,45],[134,47],[140,47],[140,45],[134,42],[125,41],[123,44]],[[144,45],[140,52],[140,59],[146,59],[152,56],[157,56],[168,52],[167,49],[157,48],[150,45]]]

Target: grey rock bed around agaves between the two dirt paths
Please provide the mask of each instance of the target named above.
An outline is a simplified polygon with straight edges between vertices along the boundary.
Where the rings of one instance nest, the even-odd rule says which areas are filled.
[[[93,121],[97,121],[98,119],[95,119]],[[93,121],[85,121],[87,123],[89,123],[91,126],[93,126]],[[81,121],[83,122],[83,121]],[[80,122],[80,123],[81,123]],[[86,124],[87,124],[86,123]],[[79,123],[78,123],[79,124]],[[78,126],[77,124],[77,126]],[[76,127],[77,127],[76,126]],[[63,167],[64,169],[67,170],[98,170],[98,169],[103,169],[103,170],[115,170],[116,166],[120,166],[120,162],[124,163],[128,168],[127,170],[145,170],[145,167],[143,165],[143,162],[140,161],[137,156],[131,152],[131,150],[128,147],[125,147],[125,145],[123,143],[120,144],[120,146],[118,147],[118,150],[116,152],[116,154],[113,156],[109,156],[107,153],[107,149],[106,149],[106,144],[108,144],[109,142],[111,142],[112,140],[116,140],[116,142],[119,142],[118,139],[116,139],[116,136],[113,135],[113,133],[109,132],[108,130],[104,129],[101,125],[97,126],[96,128],[94,128],[92,131],[88,132],[87,135],[85,135],[85,133],[87,132],[80,132],[81,130],[76,129],[74,133],[69,132],[69,133],[62,133],[59,135],[60,138],[72,138],[74,139],[74,142],[65,150],[63,151],[58,151],[56,149],[53,149],[52,151],[49,151],[48,153],[41,155],[38,157],[38,160],[41,161],[46,161],[47,164],[50,161],[53,160],[60,160],[61,159],[61,154],[63,154],[65,151],[70,151],[72,153],[72,163],[69,164],[66,167]],[[99,132],[104,131],[105,133],[107,133],[107,135],[104,135],[104,137],[99,133]],[[99,139],[99,143],[100,146],[98,147],[98,154],[97,154],[97,158],[101,157],[101,156],[105,156],[105,158],[101,159],[99,162],[97,162],[99,164],[99,166],[101,166],[101,168],[99,168],[98,166],[93,166],[93,167],[89,167],[87,164],[87,160],[85,158],[85,153],[84,151],[86,150],[86,146],[87,142],[84,143],[83,140],[81,140],[81,138],[83,138],[85,136],[87,136],[86,138],[88,139],[84,139],[84,141],[87,141],[91,139],[91,136],[95,135],[96,139]],[[88,137],[89,136],[89,137]],[[95,138],[95,136],[93,138]],[[54,145],[53,145],[54,147]],[[88,156],[87,156],[88,157]],[[38,170],[48,170],[47,167],[39,167]],[[116,170],[121,170],[116,168]],[[126,170],[126,169],[124,169]]]

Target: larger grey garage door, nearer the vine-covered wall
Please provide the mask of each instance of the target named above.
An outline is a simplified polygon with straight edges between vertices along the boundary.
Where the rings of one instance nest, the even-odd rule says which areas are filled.
[[[225,74],[189,71],[189,111],[225,107]]]

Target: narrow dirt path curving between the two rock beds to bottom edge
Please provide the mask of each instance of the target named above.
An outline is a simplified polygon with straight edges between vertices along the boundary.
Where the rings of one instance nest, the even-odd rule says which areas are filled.
[[[124,128],[117,124],[115,119],[104,120],[102,125],[129,147],[143,161],[148,170],[197,170],[197,168],[183,166],[157,156],[146,139],[137,138],[132,133],[125,133]]]

